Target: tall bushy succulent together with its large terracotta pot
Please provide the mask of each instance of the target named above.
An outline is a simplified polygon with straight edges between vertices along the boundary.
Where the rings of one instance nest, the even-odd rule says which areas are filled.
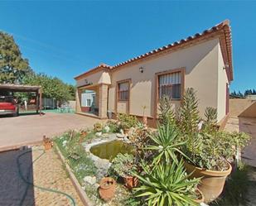
[[[194,89],[186,89],[177,126],[186,141],[186,144],[182,145],[182,151],[186,154],[186,171],[192,172],[191,178],[201,179],[199,189],[208,203],[221,194],[226,177],[232,170],[227,159],[232,158],[232,148],[237,144],[231,139],[242,140],[239,136],[234,137],[228,132],[218,131],[215,127],[217,114],[214,108],[206,108],[206,119],[200,129],[198,125],[201,120],[197,105]]]

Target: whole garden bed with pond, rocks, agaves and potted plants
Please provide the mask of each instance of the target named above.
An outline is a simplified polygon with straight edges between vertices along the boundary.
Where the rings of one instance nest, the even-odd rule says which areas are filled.
[[[160,99],[157,129],[145,122],[118,114],[54,139],[93,205],[246,204],[238,154],[250,137],[221,131],[215,108],[202,119],[194,89],[186,89],[178,112],[170,98]]]

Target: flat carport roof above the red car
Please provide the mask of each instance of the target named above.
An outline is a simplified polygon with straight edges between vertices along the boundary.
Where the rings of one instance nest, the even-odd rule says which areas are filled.
[[[41,86],[30,86],[21,84],[0,84],[0,91],[10,91],[10,92],[39,92]]]

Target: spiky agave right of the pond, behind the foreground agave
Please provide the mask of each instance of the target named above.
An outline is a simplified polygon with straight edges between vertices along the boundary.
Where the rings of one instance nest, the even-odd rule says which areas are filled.
[[[186,143],[181,141],[176,126],[171,122],[167,124],[158,124],[157,133],[150,135],[155,145],[147,146],[147,150],[157,151],[157,155],[152,161],[152,165],[158,164],[160,161],[170,163],[173,160],[178,164],[177,155],[186,156],[179,148]],[[188,158],[186,156],[186,158]],[[188,158],[189,159],[189,158]]]

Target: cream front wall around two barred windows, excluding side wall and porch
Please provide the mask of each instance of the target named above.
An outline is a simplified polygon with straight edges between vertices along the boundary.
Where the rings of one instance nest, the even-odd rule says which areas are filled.
[[[109,109],[114,111],[115,108],[116,82],[132,79],[130,113],[142,116],[142,106],[145,105],[145,114],[148,117],[154,116],[155,74],[181,67],[186,68],[185,88],[192,87],[197,91],[200,114],[204,114],[205,107],[217,108],[219,48],[219,39],[214,39],[114,71],[109,86]],[[144,68],[143,73],[139,72],[141,66]],[[179,103],[174,105],[178,108]]]

